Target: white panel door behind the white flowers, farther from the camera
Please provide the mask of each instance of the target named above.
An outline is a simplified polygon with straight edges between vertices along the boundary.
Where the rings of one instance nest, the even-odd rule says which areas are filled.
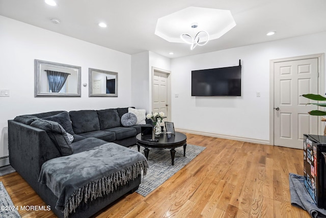
[[[152,112],[162,111],[168,116],[168,74],[154,71],[152,87]],[[169,120],[169,117],[165,120]]]

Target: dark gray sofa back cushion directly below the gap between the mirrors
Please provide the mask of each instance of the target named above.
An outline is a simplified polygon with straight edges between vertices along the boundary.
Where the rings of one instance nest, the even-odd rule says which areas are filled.
[[[98,115],[95,110],[79,110],[69,112],[74,133],[85,133],[100,130]]]

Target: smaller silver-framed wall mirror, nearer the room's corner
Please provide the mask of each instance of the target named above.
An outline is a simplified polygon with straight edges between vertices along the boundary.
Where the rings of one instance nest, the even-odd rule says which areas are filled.
[[[89,96],[118,96],[118,73],[89,68]]]

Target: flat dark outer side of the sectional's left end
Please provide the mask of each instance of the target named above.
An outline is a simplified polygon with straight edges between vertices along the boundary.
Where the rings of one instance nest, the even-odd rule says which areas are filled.
[[[60,157],[55,144],[44,130],[8,120],[9,162],[39,193],[38,177],[42,164]]]

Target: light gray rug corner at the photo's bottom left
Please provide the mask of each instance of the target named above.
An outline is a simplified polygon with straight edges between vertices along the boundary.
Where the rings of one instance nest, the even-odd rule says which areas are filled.
[[[0,217],[19,218],[17,207],[12,203],[11,198],[2,182],[0,182]],[[19,209],[19,208],[18,208]]]

